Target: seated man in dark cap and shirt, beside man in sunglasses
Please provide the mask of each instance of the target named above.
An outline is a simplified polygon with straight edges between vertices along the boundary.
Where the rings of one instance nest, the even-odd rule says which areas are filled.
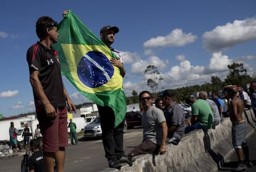
[[[168,143],[177,145],[184,135],[186,124],[185,112],[174,100],[174,95],[169,90],[164,90],[163,99],[164,117],[168,126]]]

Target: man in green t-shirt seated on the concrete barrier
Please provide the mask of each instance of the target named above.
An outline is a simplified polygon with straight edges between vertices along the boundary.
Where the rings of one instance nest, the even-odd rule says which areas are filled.
[[[192,117],[190,122],[187,123],[185,134],[193,131],[194,129],[210,129],[213,125],[213,112],[207,101],[203,99],[195,99],[194,96],[189,96],[186,99],[187,104],[192,107]]]

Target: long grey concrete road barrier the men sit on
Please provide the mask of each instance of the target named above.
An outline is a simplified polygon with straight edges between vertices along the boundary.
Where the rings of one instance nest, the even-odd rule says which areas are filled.
[[[248,137],[255,131],[256,120],[252,110],[247,110],[244,117],[248,124]],[[146,154],[135,157],[132,166],[124,164],[120,171],[218,171],[224,159],[234,152],[231,126],[229,118],[224,118],[215,129],[209,129],[208,132],[197,129],[186,134],[178,145],[168,144],[166,154],[156,155],[156,166],[153,165],[153,156]],[[119,170],[106,168],[101,172],[107,171]]]

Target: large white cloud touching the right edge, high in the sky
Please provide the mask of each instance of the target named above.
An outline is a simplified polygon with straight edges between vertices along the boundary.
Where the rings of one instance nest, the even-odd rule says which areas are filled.
[[[203,47],[210,52],[224,51],[236,44],[256,39],[256,17],[234,20],[203,34]]]

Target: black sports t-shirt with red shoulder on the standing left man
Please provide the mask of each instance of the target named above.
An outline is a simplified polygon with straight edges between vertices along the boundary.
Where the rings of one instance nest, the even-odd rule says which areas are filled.
[[[38,76],[43,91],[54,107],[66,106],[63,83],[61,78],[61,65],[57,51],[51,47],[48,49],[39,42],[31,46],[27,51],[27,62],[30,73],[39,71]],[[34,93],[35,102],[41,104]]]

